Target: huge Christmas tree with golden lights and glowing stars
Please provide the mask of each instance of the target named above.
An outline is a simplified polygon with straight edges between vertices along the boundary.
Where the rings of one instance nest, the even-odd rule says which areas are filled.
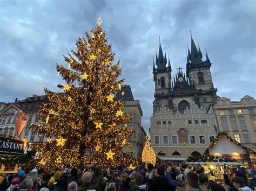
[[[33,131],[48,137],[47,142],[31,144],[36,150],[34,161],[45,167],[81,166],[96,164],[114,167],[118,164],[137,164],[132,153],[120,150],[130,146],[126,138],[132,135],[126,122],[130,115],[122,111],[124,102],[114,95],[124,85],[118,80],[119,62],[112,63],[114,53],[107,44],[99,18],[86,38],[78,38],[77,50],[64,56],[68,68],[56,64],[61,93],[45,88],[49,102],[39,107],[38,117],[45,124],[30,124]],[[73,55],[71,55],[73,54]]]

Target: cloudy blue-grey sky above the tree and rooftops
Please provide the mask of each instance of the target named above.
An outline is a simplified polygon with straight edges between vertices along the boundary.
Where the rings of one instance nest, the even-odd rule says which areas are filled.
[[[255,1],[0,1],[0,102],[13,102],[43,87],[59,91],[55,63],[75,48],[99,16],[123,67],[122,77],[140,101],[148,131],[154,83],[152,60],[161,45],[173,68],[185,68],[190,29],[207,53],[218,95],[255,97]],[[205,51],[203,51],[205,55]],[[205,56],[204,56],[205,59]]]

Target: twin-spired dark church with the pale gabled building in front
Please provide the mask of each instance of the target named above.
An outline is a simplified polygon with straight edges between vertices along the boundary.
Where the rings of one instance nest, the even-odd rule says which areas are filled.
[[[172,67],[159,41],[156,66],[153,60],[155,93],[150,135],[156,155],[165,160],[185,160],[190,155],[201,155],[217,135],[217,122],[211,105],[217,103],[217,88],[211,76],[211,61],[206,52],[203,61],[200,47],[191,36],[186,74]],[[166,66],[167,65],[167,66]]]

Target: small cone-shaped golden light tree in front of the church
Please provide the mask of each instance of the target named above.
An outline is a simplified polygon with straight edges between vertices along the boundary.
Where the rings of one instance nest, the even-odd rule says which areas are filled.
[[[151,147],[149,135],[146,136],[145,146],[142,151],[142,161],[147,164],[156,164],[156,154],[154,153],[153,148]]]

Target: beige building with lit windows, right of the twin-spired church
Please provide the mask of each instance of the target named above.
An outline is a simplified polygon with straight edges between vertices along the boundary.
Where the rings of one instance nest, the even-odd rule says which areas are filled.
[[[218,97],[213,112],[218,131],[227,132],[237,142],[256,151],[256,100],[253,97],[246,95],[239,102]]]

